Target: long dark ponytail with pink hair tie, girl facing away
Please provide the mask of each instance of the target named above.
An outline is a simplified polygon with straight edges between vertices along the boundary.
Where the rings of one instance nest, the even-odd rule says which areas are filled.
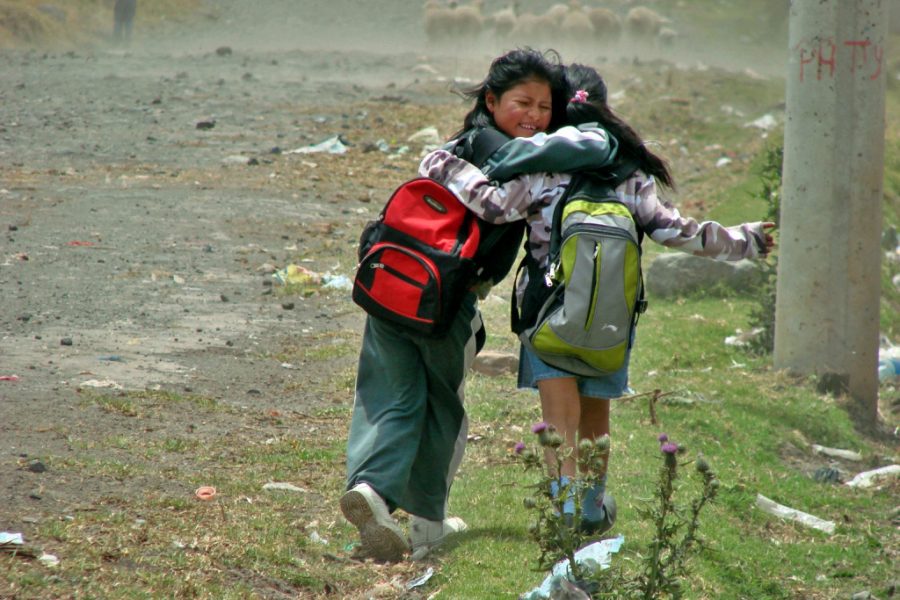
[[[583,102],[568,102],[566,119],[570,125],[599,123],[619,141],[619,153],[634,157],[641,170],[652,175],[660,183],[674,189],[675,181],[666,161],[653,154],[644,145],[644,140],[634,128],[620,119],[609,107],[606,97],[606,82],[593,67],[572,64],[566,67],[566,78],[571,90],[570,98],[577,90],[587,92]]]

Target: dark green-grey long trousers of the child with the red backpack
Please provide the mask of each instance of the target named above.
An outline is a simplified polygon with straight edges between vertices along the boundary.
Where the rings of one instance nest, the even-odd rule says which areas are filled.
[[[474,295],[441,338],[366,319],[347,440],[347,489],[366,482],[391,510],[444,518],[465,449],[463,390],[480,328]]]

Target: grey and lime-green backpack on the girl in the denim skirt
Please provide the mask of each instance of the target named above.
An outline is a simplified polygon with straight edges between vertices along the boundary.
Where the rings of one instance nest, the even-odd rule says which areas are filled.
[[[643,234],[615,189],[636,170],[621,161],[576,174],[553,213],[550,262],[530,255],[521,310],[513,293],[512,328],[545,363],[597,377],[622,367],[638,316],[646,310]]]

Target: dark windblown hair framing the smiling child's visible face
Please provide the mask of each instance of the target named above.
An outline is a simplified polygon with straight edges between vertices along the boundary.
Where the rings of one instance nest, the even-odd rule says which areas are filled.
[[[494,116],[487,108],[489,91],[499,98],[510,88],[532,80],[545,81],[550,86],[553,105],[548,129],[554,131],[565,125],[569,93],[559,55],[553,50],[539,52],[532,48],[518,48],[495,58],[484,81],[459,91],[463,97],[474,100],[475,106],[463,120],[463,128],[452,139],[473,127],[496,127]]]

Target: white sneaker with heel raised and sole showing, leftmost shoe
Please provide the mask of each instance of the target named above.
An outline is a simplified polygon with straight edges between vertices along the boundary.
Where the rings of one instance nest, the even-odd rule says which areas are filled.
[[[341,512],[359,529],[362,550],[369,556],[396,562],[409,550],[400,526],[368,483],[357,484],[341,496]]]

